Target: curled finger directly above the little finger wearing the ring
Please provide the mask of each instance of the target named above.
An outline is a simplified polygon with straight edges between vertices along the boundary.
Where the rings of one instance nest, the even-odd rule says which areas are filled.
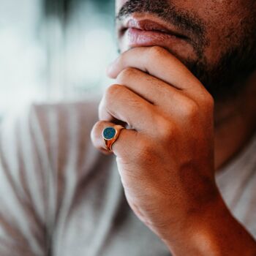
[[[129,90],[114,84],[99,104],[99,120],[123,121],[132,129],[147,131],[154,124],[154,105]]]

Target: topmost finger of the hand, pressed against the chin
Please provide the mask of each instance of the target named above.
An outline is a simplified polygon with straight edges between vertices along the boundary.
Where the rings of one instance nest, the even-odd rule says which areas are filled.
[[[206,92],[203,85],[175,56],[159,46],[132,48],[122,53],[108,68],[110,78],[116,78],[127,67],[148,72],[177,89],[198,94]]]

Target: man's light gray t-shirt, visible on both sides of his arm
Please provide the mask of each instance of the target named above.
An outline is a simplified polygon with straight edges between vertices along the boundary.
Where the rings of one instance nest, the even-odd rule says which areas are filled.
[[[133,214],[114,156],[91,144],[97,101],[34,105],[0,132],[0,255],[167,256]],[[256,237],[256,136],[217,174]]]

